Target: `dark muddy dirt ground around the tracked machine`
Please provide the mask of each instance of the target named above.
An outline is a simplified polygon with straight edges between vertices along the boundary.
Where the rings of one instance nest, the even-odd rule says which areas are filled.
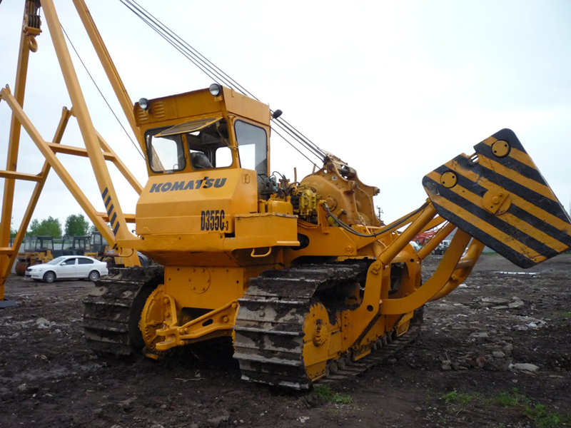
[[[0,427],[571,426],[571,255],[525,272],[483,255],[465,285],[427,305],[420,337],[395,358],[303,393],[242,381],[218,349],[101,359],[81,327],[91,282],[11,277]]]

